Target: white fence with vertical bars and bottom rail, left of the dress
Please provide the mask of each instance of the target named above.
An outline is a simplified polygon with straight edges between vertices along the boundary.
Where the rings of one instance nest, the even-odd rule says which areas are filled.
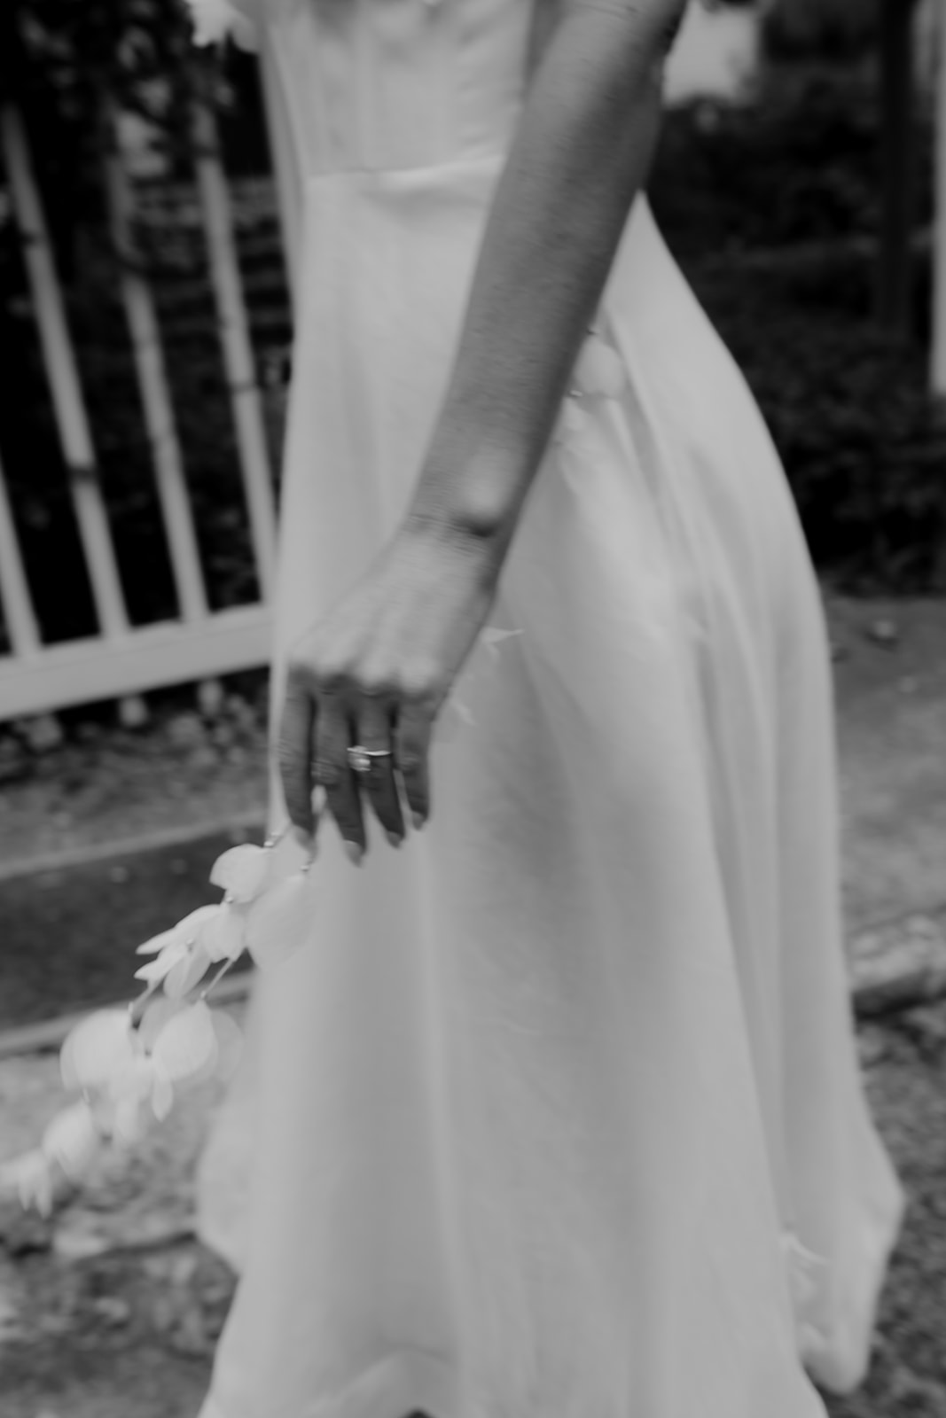
[[[271,92],[268,99],[274,123]],[[277,122],[278,118],[275,115]],[[155,298],[133,250],[135,196],[122,150],[122,125],[115,118],[111,121],[115,146],[106,157],[105,173],[109,225],[121,257],[119,295],[179,615],[159,624],[136,627],[129,623],[28,135],[18,109],[7,104],[0,109],[3,163],[98,634],[44,644],[0,464],[0,610],[10,644],[10,654],[0,655],[0,720],[95,699],[128,702],[129,696],[160,685],[204,681],[265,664],[269,654],[268,598],[275,552],[272,478],[216,121],[207,108],[194,108],[194,177],[261,593],[257,604],[217,611],[211,611],[207,601]],[[285,166],[285,132],[277,129],[272,143],[279,169],[281,163]],[[286,193],[281,193],[284,220],[286,200]],[[45,574],[55,577],[55,566],[45,567]]]

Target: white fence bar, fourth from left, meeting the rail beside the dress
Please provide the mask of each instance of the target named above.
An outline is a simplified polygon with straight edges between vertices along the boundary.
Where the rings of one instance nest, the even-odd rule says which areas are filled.
[[[269,454],[250,342],[250,322],[240,282],[230,199],[220,162],[217,125],[211,111],[201,102],[194,104],[193,108],[193,136],[197,191],[210,258],[210,279],[217,302],[224,367],[237,427],[237,448],[257,557],[257,574],[262,598],[268,600],[272,590],[275,559],[275,508]]]

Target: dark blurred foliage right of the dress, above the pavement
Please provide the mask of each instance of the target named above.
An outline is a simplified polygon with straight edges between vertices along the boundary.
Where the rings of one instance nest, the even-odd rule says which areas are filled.
[[[923,220],[928,128],[918,140]],[[669,115],[651,200],[759,398],[818,564],[848,586],[929,590],[946,542],[929,257],[903,346],[872,320],[878,142],[869,67],[779,67],[747,108]]]

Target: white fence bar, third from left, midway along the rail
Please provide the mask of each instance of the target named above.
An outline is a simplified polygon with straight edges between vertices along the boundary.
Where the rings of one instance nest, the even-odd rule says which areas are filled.
[[[167,533],[177,604],[182,620],[197,621],[207,614],[200,553],[167,387],[160,328],[150,288],[140,274],[140,258],[132,234],[133,193],[122,152],[121,123],[111,105],[106,106],[104,126],[108,135],[105,190],[112,241],[121,261],[122,303],[142,396],[145,428],[155,464],[155,482]]]

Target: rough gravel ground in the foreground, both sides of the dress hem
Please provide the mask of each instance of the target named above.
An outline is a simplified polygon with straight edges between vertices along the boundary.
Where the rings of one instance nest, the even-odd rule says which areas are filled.
[[[828,1408],[946,1418],[946,1004],[862,1028],[861,1048],[911,1201],[869,1378]],[[33,1139],[57,1102],[54,1059],[0,1064],[4,1136]],[[187,1235],[214,1102],[191,1095],[125,1174],[101,1173],[52,1224],[0,1211],[3,1418],[194,1418],[233,1292]]]

